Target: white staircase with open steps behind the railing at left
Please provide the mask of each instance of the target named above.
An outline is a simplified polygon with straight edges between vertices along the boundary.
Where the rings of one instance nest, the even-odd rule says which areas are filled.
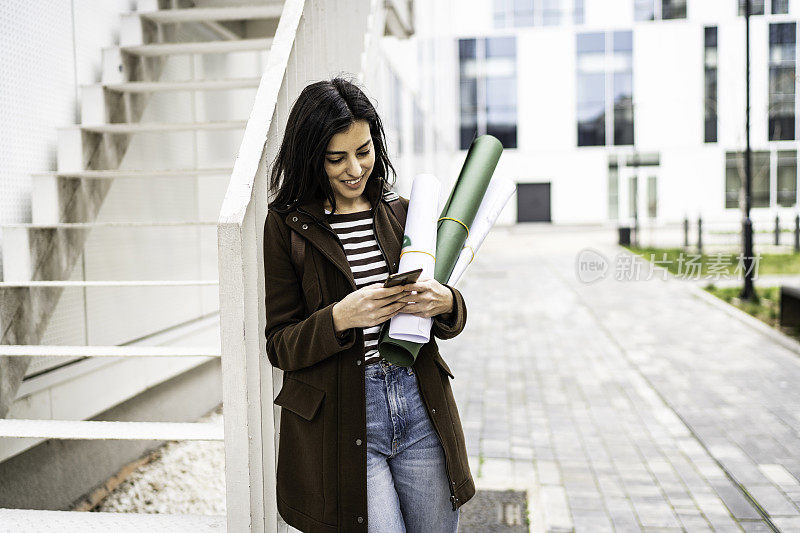
[[[138,11],[121,15],[121,45],[103,53],[102,83],[81,90],[81,124],[59,128],[58,170],[32,174],[31,224],[3,228],[3,281],[0,282],[0,372],[11,371],[16,393],[30,361],[37,357],[183,358],[198,364],[220,357],[216,346],[53,346],[39,345],[43,325],[63,290],[93,287],[158,289],[170,286],[218,286],[217,279],[69,280],[86,235],[98,228],[131,231],[137,227],[214,226],[216,221],[96,222],[94,217],[115,180],[152,180],[186,176],[229,176],[231,168],[165,170],[116,168],[133,136],[141,133],[243,130],[244,120],[141,122],[151,94],[226,91],[258,87],[260,77],[158,79],[158,61],[175,54],[228,54],[266,51],[273,35],[252,35],[273,28],[282,3],[253,0],[253,5],[185,7],[182,0],[140,0]],[[239,31],[248,22],[248,31]],[[217,40],[169,42],[175,25],[200,24]],[[255,30],[253,29],[255,28]],[[187,96],[188,97],[188,96]],[[80,191],[76,193],[75,191]],[[77,236],[76,236],[77,235]],[[45,242],[47,246],[42,246]],[[48,276],[49,279],[48,279]],[[57,276],[53,278],[52,276]],[[49,291],[49,292],[42,292]],[[13,358],[13,359],[11,359]],[[6,376],[7,378],[8,376]],[[167,376],[168,377],[168,376]],[[13,384],[12,384],[13,385]],[[0,390],[0,439],[223,440],[223,426],[182,422],[2,419],[8,411]],[[86,390],[91,395],[91,390]],[[27,531],[223,531],[225,517],[131,515],[93,512],[0,509],[0,529]]]

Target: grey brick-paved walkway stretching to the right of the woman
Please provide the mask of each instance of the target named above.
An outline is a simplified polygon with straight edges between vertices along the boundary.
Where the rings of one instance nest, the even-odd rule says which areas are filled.
[[[478,488],[529,488],[534,531],[800,531],[800,356],[641,260],[615,279],[620,253],[496,228],[459,283],[441,346]]]

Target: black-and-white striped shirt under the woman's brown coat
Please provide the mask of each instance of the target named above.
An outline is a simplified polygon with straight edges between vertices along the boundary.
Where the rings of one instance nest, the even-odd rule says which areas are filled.
[[[383,283],[389,276],[389,268],[383,259],[383,254],[375,240],[372,231],[372,209],[356,213],[333,214],[327,209],[328,222],[333,231],[339,236],[344,245],[347,262],[360,289],[373,283]],[[380,324],[363,328],[364,332],[364,363],[371,364],[380,361],[378,353],[378,335]]]

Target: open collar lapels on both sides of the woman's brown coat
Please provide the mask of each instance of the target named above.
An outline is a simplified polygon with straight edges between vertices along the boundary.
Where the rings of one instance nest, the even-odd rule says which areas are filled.
[[[365,191],[365,196],[372,206],[375,238],[383,250],[389,272],[397,272],[400,247],[403,241],[403,226],[387,209],[381,191]],[[322,200],[313,200],[290,209],[285,215],[286,224],[317,248],[333,265],[350,281],[356,289],[350,263],[342,247],[339,237],[327,221]]]

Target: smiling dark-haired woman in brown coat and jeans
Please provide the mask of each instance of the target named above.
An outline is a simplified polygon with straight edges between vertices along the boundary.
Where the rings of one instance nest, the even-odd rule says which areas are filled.
[[[278,511],[304,532],[455,532],[475,493],[453,375],[461,293],[397,271],[408,200],[373,105],[341,78],[307,86],[274,161],[264,224],[266,352],[284,370]],[[413,291],[413,292],[412,292]],[[398,313],[433,317],[411,367],[377,351]]]

